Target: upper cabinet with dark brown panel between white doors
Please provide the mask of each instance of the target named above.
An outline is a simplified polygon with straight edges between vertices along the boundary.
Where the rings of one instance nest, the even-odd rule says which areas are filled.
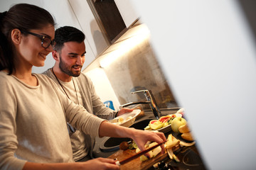
[[[95,58],[139,18],[129,0],[69,0],[69,3]]]

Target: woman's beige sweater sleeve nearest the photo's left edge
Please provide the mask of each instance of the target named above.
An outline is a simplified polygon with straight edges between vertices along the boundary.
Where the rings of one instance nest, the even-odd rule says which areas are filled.
[[[23,169],[25,160],[14,157],[16,137],[16,100],[5,77],[0,76],[0,169]]]

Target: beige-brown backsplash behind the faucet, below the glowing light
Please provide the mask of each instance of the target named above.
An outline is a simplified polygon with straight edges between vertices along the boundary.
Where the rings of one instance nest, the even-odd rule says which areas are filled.
[[[144,94],[131,92],[148,89],[152,91],[159,108],[178,107],[149,40],[144,40],[104,70],[121,105],[146,101]],[[147,105],[143,107],[149,108]]]

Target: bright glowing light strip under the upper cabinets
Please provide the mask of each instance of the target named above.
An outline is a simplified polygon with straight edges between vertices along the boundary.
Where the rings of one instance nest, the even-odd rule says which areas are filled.
[[[100,67],[107,67],[112,62],[114,62],[114,60],[117,60],[117,58],[121,57],[126,52],[129,52],[134,47],[144,42],[144,40],[149,39],[149,29],[144,25],[138,27],[139,29],[136,31],[135,35],[133,35],[131,38],[128,38],[127,40],[119,42],[120,45],[117,50],[107,53],[102,58],[102,60],[100,60]]]

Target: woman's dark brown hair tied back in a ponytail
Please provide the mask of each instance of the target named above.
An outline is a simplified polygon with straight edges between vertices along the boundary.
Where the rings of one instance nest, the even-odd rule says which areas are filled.
[[[15,69],[11,30],[17,28],[23,33],[48,24],[55,26],[53,16],[45,9],[31,4],[16,4],[9,11],[0,13],[0,70],[8,69],[9,74],[12,74]]]

